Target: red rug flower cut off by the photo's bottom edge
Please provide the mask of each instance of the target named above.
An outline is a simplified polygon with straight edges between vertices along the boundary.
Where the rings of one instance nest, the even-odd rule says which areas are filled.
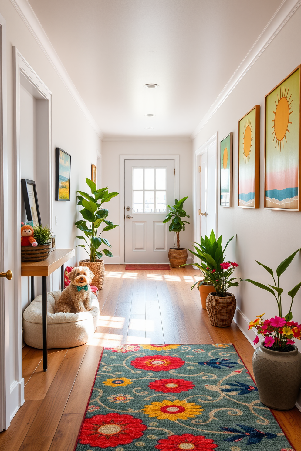
[[[158,445],[155,446],[157,450],[161,451],[211,451],[217,447],[218,445],[211,438],[192,434],[170,435],[168,438],[158,440]]]

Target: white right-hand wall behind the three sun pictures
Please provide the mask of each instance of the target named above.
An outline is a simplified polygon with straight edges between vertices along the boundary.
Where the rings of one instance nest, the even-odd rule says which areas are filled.
[[[193,141],[195,151],[214,133],[218,132],[219,145],[222,138],[233,132],[233,207],[218,207],[218,235],[222,234],[226,244],[227,239],[236,234],[227,259],[239,263],[237,275],[265,284],[272,284],[272,278],[255,259],[275,270],[284,258],[301,247],[301,212],[264,210],[264,96],[301,63],[300,23],[299,8]],[[238,120],[255,104],[261,105],[260,208],[238,208]],[[291,299],[285,293],[301,280],[300,270],[299,253],[280,279],[284,289],[284,314],[288,313]],[[233,293],[247,321],[261,313],[265,313],[265,318],[278,314],[272,295],[248,282],[241,282]],[[292,312],[294,320],[301,322],[301,292],[296,295]],[[245,319],[238,315],[238,321],[247,333]],[[249,337],[255,338],[253,331],[249,332]],[[296,344],[301,350],[301,342]]]

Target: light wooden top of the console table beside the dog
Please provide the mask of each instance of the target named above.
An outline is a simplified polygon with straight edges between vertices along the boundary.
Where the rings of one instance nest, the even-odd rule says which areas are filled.
[[[55,249],[42,262],[21,262],[21,276],[49,276],[75,255],[75,249]]]

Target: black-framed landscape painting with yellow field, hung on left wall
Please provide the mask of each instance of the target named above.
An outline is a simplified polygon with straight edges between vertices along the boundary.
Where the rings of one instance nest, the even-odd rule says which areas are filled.
[[[70,200],[71,155],[56,147],[56,200]]]

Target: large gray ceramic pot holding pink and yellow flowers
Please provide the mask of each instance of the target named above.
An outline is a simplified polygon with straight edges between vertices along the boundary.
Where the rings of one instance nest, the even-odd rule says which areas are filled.
[[[260,401],[276,410],[292,409],[301,386],[301,354],[273,351],[261,344],[253,354],[253,371]]]

